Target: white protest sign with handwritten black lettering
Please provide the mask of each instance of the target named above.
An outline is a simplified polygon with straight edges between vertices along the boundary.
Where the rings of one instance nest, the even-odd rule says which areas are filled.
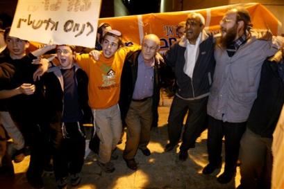
[[[10,35],[94,48],[101,0],[18,0]]]

